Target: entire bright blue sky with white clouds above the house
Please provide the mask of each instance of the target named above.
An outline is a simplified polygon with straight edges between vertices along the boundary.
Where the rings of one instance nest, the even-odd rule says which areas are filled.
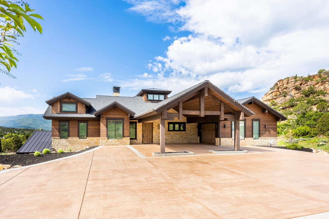
[[[210,80],[237,99],[261,98],[280,78],[328,69],[328,3],[275,2],[29,0],[43,34],[29,28],[16,46],[17,78],[0,75],[0,116],[43,113],[66,91],[112,95],[113,86],[121,96],[174,94]]]

